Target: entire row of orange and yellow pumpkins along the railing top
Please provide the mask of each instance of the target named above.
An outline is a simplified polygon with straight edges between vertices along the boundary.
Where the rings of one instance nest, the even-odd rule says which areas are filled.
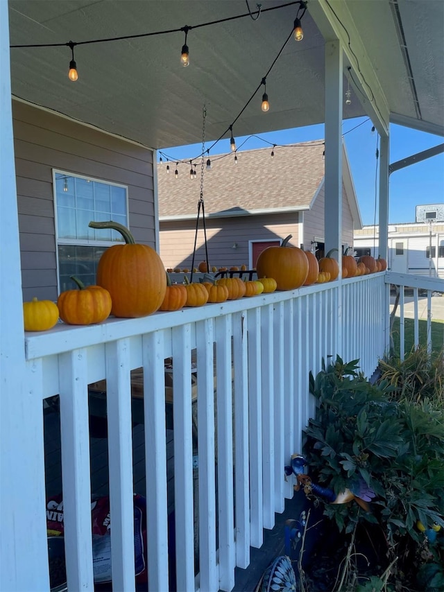
[[[293,290],[300,286],[333,281],[339,265],[332,252],[317,261],[314,254],[288,245],[291,235],[279,247],[266,248],[257,259],[258,280],[243,281],[239,277],[221,278],[214,283],[171,284],[160,256],[148,245],[135,243],[129,230],[119,223],[90,222],[97,229],[117,230],[125,244],[107,249],[97,267],[97,285],[83,286],[76,277],[78,290],[67,290],[50,300],[24,303],[26,331],[46,331],[54,327],[59,316],[67,324],[99,323],[110,314],[121,318],[151,315],[155,311],[178,311],[183,306],[203,306],[207,302],[225,302],[241,297]],[[343,277],[355,277],[386,269],[384,260],[343,256]],[[206,266],[206,263],[203,262]],[[203,268],[203,265],[200,267]]]

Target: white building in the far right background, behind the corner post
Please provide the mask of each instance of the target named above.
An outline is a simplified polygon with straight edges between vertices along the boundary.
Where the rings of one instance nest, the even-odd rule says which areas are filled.
[[[370,254],[377,257],[378,241],[378,227],[376,234],[373,225],[357,230],[353,241],[355,256]],[[398,273],[444,278],[444,223],[388,225],[387,263],[391,271]]]

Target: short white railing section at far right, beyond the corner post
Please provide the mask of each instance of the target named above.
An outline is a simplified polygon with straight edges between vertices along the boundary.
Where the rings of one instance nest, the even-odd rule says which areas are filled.
[[[400,317],[400,359],[404,360],[406,354],[406,347],[405,347],[405,319],[407,314],[409,317],[413,318],[413,346],[415,348],[418,347],[420,343],[419,338],[419,322],[420,322],[420,314],[419,314],[419,305],[420,305],[420,295],[425,295],[426,297],[426,306],[427,306],[427,315],[425,316],[425,320],[427,321],[427,329],[426,329],[426,343],[427,343],[427,350],[429,352],[432,351],[432,346],[435,344],[432,343],[432,318],[434,317],[434,308],[432,305],[432,295],[441,295],[439,302],[435,303],[435,307],[439,307],[438,313],[438,320],[444,321],[444,279],[439,279],[436,277],[424,277],[422,275],[410,275],[410,274],[401,274],[395,272],[387,272],[386,273],[386,284],[388,286],[388,290],[391,286],[395,286],[399,290],[399,317]],[[410,294],[412,295],[413,302],[409,303],[409,310],[407,313],[407,292],[409,292],[409,299]],[[423,302],[423,299],[422,299]],[[412,306],[413,304],[413,306]],[[422,304],[424,306],[424,304]],[[424,316],[424,315],[423,315]],[[444,324],[443,324],[443,333],[444,333]],[[443,343],[443,339],[441,338],[440,346]],[[388,345],[388,344],[387,344]]]

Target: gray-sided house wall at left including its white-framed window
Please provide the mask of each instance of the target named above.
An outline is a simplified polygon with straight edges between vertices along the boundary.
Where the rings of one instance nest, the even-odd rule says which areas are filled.
[[[120,222],[155,246],[151,150],[23,101],[12,115],[24,300],[56,300],[74,289],[71,275],[95,283],[121,236],[89,220]]]

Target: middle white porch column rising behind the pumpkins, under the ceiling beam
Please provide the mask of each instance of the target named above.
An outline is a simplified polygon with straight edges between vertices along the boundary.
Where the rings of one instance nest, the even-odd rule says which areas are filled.
[[[342,234],[342,48],[325,44],[325,252],[336,247],[341,267]]]

